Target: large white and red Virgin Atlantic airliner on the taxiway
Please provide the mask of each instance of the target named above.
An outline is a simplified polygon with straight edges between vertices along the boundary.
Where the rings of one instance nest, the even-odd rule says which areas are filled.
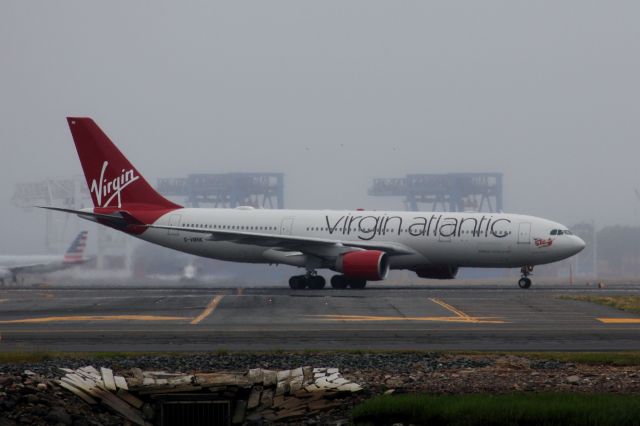
[[[158,194],[90,118],[67,119],[94,207],[45,207],[143,240],[213,259],[285,264],[306,272],[292,289],[364,288],[390,269],[452,279],[461,267],[521,268],[580,252],[585,243],[550,220],[502,213],[184,208]]]

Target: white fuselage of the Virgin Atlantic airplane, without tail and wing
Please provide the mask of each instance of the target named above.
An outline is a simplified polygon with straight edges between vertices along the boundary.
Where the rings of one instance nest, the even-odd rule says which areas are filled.
[[[291,235],[336,241],[395,243],[410,254],[390,257],[393,269],[431,265],[521,267],[565,259],[584,242],[573,235],[552,235],[566,227],[546,219],[502,213],[385,212],[330,210],[255,210],[183,208],[154,225],[258,234]],[[140,238],[198,256],[236,262],[284,263],[273,249],[215,241],[201,232],[147,229]]]

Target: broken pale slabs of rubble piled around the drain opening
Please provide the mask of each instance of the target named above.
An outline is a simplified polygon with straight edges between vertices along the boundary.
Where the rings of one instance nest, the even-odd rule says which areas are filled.
[[[114,374],[86,366],[60,369],[65,375],[57,383],[87,404],[101,404],[135,425],[150,425],[158,400],[189,392],[228,399],[233,423],[262,420],[295,421],[339,407],[339,399],[363,388],[342,377],[337,368],[299,367],[273,371],[252,368],[246,373],[167,373],[127,370]],[[46,386],[46,385],[45,385]]]

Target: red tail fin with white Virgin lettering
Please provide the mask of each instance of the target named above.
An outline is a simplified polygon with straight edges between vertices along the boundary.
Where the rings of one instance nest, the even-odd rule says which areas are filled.
[[[90,118],[68,117],[95,207],[176,209],[158,194]]]

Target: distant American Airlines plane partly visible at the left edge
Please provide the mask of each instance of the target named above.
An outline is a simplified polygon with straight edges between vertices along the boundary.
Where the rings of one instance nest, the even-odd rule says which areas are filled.
[[[87,231],[81,231],[73,240],[64,256],[25,255],[0,256],[0,283],[11,278],[18,282],[18,274],[46,274],[72,266],[81,265],[91,258],[83,257],[87,246]]]

